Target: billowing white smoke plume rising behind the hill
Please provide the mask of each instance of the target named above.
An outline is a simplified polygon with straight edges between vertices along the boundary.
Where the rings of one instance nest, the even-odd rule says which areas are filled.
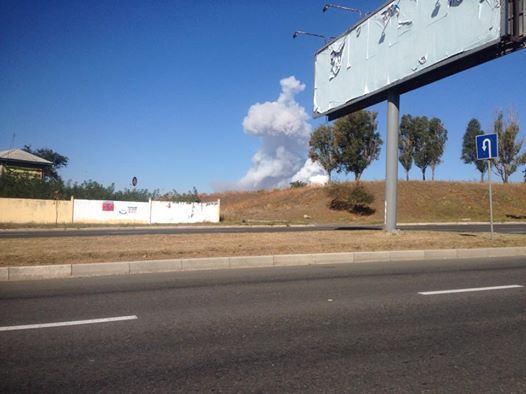
[[[280,84],[281,94],[276,101],[252,105],[243,120],[245,132],[261,138],[261,148],[252,158],[252,167],[238,182],[239,189],[283,187],[291,181],[327,181],[319,164],[305,161],[312,128],[305,108],[294,99],[305,85],[293,76],[282,79]]]

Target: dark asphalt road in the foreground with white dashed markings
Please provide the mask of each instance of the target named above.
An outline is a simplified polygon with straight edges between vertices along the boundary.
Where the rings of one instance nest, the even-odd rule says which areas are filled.
[[[526,259],[2,283],[0,392],[526,392],[526,288],[419,294],[507,285]]]

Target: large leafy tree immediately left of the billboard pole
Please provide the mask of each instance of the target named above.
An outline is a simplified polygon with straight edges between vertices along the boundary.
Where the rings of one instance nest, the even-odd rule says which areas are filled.
[[[334,123],[334,141],[338,172],[352,172],[357,181],[364,170],[380,156],[383,143],[376,132],[376,112],[353,112]]]

